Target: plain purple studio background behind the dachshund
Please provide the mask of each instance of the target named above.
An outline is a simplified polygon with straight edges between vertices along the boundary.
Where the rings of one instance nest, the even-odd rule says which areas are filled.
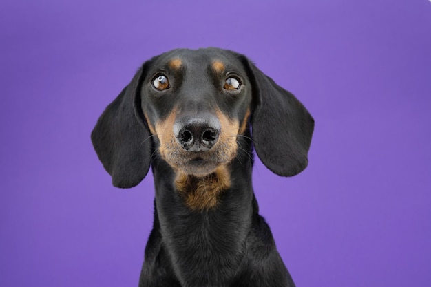
[[[254,171],[297,286],[430,286],[430,1],[6,0],[0,28],[0,286],[137,286],[152,176],[112,187],[90,132],[140,63],[207,46],[315,117],[306,171]]]

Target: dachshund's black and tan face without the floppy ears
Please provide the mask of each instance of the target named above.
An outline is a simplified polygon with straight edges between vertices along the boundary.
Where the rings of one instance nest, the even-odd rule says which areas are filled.
[[[140,89],[140,109],[160,156],[193,176],[206,176],[235,158],[251,100],[241,61],[212,50],[174,50],[154,58]]]

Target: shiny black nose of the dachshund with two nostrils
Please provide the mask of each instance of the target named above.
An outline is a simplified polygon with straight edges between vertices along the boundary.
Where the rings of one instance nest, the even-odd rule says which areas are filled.
[[[209,151],[220,136],[220,121],[212,115],[183,116],[174,123],[176,141],[186,151]]]

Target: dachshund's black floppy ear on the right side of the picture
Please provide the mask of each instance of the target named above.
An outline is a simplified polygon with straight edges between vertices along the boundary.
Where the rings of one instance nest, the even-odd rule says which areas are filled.
[[[295,176],[308,164],[314,120],[304,105],[247,61],[253,92],[251,117],[257,156],[279,176]]]

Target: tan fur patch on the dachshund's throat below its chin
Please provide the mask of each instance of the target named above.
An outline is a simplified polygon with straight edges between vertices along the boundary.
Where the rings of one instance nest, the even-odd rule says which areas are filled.
[[[178,173],[176,188],[185,205],[193,211],[208,211],[217,206],[220,194],[231,186],[227,166],[220,166],[208,176],[196,177]]]

